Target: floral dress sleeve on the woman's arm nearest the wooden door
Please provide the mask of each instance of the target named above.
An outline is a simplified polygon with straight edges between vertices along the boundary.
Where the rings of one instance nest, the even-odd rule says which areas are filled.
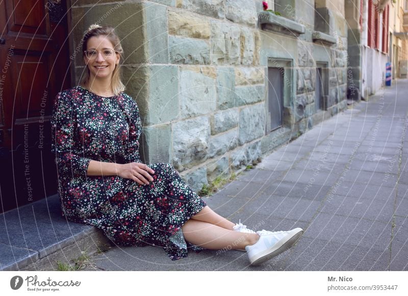
[[[74,145],[73,102],[67,93],[59,93],[54,101],[51,119],[51,152],[56,154],[59,177],[86,176],[91,159],[81,157]],[[63,176],[61,176],[63,175]]]

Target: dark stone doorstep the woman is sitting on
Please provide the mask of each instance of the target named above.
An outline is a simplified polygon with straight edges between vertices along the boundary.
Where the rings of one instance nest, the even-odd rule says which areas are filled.
[[[112,243],[93,226],[61,216],[57,194],[0,214],[0,270],[52,271]],[[85,253],[84,253],[85,252]]]

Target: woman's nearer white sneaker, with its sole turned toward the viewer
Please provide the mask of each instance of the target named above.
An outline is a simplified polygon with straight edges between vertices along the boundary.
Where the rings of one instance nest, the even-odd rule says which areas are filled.
[[[256,244],[248,245],[245,250],[248,254],[251,265],[259,265],[272,257],[292,247],[303,234],[302,228],[295,228],[289,231],[267,231],[265,229],[257,231],[260,238]]]

